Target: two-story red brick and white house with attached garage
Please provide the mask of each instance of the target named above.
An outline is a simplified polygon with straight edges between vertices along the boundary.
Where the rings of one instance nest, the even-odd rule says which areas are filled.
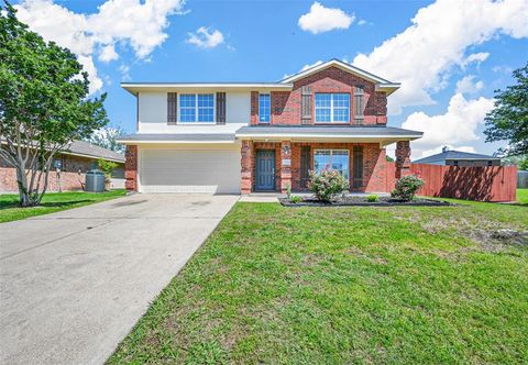
[[[143,192],[305,190],[332,167],[354,191],[389,191],[409,174],[409,141],[387,126],[399,84],[332,59],[278,82],[125,82],[138,101],[127,188]],[[396,143],[396,173],[385,147]],[[392,166],[392,165],[391,165]],[[392,173],[391,173],[392,172]]]

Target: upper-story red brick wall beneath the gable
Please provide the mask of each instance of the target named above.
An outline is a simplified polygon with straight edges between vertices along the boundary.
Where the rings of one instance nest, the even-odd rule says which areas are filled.
[[[364,88],[364,125],[384,125],[387,123],[387,97],[385,92],[375,91],[375,85],[338,67],[329,67],[309,75],[294,84],[293,91],[272,91],[272,125],[300,125],[301,88],[311,87],[312,100],[316,92],[350,93],[350,124],[354,122],[354,87]],[[315,103],[311,103],[315,115]],[[311,123],[315,123],[312,118]],[[251,92],[251,124],[258,124],[258,92]],[[318,125],[320,125],[318,123]]]

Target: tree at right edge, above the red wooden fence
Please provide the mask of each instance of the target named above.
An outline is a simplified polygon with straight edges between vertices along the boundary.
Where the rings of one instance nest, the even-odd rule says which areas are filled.
[[[514,71],[517,84],[495,90],[495,107],[486,115],[486,142],[508,141],[499,153],[528,154],[528,63]]]

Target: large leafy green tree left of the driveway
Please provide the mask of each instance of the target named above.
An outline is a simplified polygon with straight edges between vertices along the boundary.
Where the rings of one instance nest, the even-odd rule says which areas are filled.
[[[20,203],[37,206],[55,154],[108,123],[106,95],[88,99],[76,56],[0,7],[0,157],[16,170]]]

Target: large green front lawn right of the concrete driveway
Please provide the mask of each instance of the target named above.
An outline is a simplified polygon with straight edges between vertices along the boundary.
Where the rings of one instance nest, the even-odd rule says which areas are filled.
[[[521,206],[238,203],[109,364],[528,362]]]

